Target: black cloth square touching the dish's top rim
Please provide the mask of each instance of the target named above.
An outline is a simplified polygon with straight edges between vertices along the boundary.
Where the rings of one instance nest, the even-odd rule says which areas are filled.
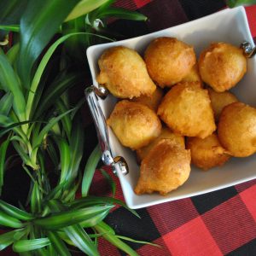
[[[189,20],[195,20],[206,15],[212,15],[214,12],[224,8],[224,0],[179,0],[185,10]]]

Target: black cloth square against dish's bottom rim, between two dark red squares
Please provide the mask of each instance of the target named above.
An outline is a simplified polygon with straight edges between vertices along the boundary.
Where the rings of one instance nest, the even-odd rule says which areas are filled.
[[[191,200],[193,201],[196,210],[200,214],[203,214],[237,194],[236,189],[234,187],[230,187],[227,189],[219,189],[204,195],[193,196],[191,197]]]

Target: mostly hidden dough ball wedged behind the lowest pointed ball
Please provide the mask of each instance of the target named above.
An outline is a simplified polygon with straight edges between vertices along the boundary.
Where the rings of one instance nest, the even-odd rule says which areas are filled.
[[[162,139],[168,139],[170,142],[173,143],[173,146],[185,148],[185,141],[184,137],[173,133],[169,128],[163,127],[162,131],[160,133],[160,136],[154,139],[151,143],[148,144],[148,146],[137,149],[137,160],[141,162],[145,156],[148,154],[148,152],[154,148],[154,146],[160,142]]]

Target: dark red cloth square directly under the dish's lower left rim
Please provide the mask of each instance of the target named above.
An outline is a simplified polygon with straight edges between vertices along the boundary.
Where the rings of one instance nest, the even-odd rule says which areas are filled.
[[[148,207],[148,212],[161,235],[199,216],[189,198]]]

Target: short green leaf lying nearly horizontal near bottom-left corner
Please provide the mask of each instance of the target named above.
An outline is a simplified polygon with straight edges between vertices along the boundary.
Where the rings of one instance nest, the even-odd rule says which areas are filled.
[[[37,250],[38,248],[49,246],[49,238],[38,238],[31,240],[20,240],[15,241],[13,245],[13,250],[15,253],[29,252]]]

